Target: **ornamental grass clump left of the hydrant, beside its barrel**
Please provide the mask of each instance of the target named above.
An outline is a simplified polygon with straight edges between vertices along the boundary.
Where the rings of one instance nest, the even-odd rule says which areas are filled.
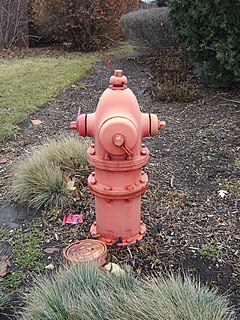
[[[64,208],[73,199],[75,184],[84,184],[88,175],[88,146],[89,141],[63,137],[29,153],[16,169],[15,200],[36,209]]]

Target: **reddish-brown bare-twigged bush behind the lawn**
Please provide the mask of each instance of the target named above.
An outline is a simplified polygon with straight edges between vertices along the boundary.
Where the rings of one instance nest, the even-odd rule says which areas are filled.
[[[119,37],[119,17],[137,8],[136,0],[33,0],[31,19],[46,39],[81,51],[103,48]]]

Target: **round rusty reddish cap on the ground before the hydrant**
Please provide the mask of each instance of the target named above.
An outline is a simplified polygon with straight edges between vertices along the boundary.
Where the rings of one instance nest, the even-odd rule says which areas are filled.
[[[107,246],[99,240],[79,240],[65,248],[63,256],[68,263],[93,261],[101,267],[107,260]]]

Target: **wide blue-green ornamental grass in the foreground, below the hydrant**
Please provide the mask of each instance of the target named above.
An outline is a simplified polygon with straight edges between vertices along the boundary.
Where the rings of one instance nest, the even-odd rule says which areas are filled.
[[[79,264],[38,280],[25,302],[25,320],[234,319],[225,297],[188,277],[140,280]]]

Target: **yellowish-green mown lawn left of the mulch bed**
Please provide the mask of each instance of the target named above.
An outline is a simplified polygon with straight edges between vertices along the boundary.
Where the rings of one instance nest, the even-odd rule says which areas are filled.
[[[122,45],[98,54],[30,52],[0,59],[0,141],[14,137],[19,122],[82,77],[97,59],[130,50]]]

